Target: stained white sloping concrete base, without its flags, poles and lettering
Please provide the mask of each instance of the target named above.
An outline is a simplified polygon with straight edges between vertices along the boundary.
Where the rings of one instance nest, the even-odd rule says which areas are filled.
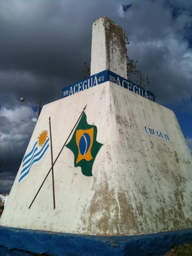
[[[28,150],[52,120],[53,158],[87,104],[88,124],[104,145],[93,176],[74,167],[64,148],[30,209],[47,171],[50,151],[20,185],[21,167],[0,219],[8,227],[77,234],[131,235],[192,228],[192,157],[173,111],[111,82],[43,106]],[[145,126],[167,133],[164,141]]]

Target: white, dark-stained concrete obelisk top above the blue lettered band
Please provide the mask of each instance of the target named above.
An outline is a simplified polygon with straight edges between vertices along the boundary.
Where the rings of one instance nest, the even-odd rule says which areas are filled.
[[[104,16],[93,22],[91,75],[106,69],[127,78],[125,31]]]

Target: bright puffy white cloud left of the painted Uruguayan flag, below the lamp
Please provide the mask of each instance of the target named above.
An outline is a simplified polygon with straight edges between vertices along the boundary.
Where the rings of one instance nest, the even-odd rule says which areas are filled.
[[[0,150],[1,161],[11,156],[11,158],[20,157],[24,152],[24,145],[28,143],[30,135],[35,127],[32,121],[35,113],[27,106],[8,109],[0,109]],[[10,159],[11,159],[10,158]]]

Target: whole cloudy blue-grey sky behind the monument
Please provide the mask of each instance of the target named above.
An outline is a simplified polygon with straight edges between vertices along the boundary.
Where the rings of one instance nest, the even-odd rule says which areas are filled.
[[[147,89],[172,109],[192,151],[191,0],[0,0],[0,192],[9,192],[42,105],[83,78],[92,23],[125,29]],[[134,81],[133,81],[134,82]]]

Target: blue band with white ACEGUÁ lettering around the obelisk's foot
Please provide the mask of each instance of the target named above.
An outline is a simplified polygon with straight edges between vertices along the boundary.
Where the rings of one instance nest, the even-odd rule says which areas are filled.
[[[111,72],[110,70],[104,70],[100,73],[97,73],[93,76],[89,76],[86,79],[80,80],[72,85],[67,87],[63,87],[63,95],[62,98],[71,96],[80,91],[84,91],[96,85],[102,84],[104,82],[114,82],[116,85],[119,85],[129,91],[137,93],[138,95],[147,98],[148,100],[155,101],[155,95],[150,91],[146,90],[143,87],[140,87],[133,82]]]

